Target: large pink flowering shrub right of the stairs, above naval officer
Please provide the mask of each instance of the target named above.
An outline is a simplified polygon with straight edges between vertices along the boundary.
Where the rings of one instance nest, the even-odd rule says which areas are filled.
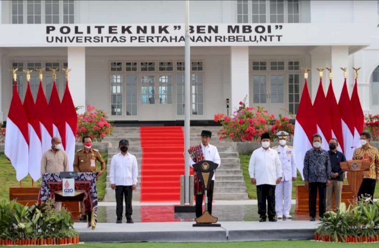
[[[255,110],[255,111],[254,111]],[[215,114],[214,121],[222,125],[218,132],[219,139],[230,139],[232,141],[257,141],[261,135],[268,132],[268,126],[274,119],[273,114],[269,114],[263,107],[246,106],[245,102],[240,102],[238,110],[233,112],[233,116]]]

